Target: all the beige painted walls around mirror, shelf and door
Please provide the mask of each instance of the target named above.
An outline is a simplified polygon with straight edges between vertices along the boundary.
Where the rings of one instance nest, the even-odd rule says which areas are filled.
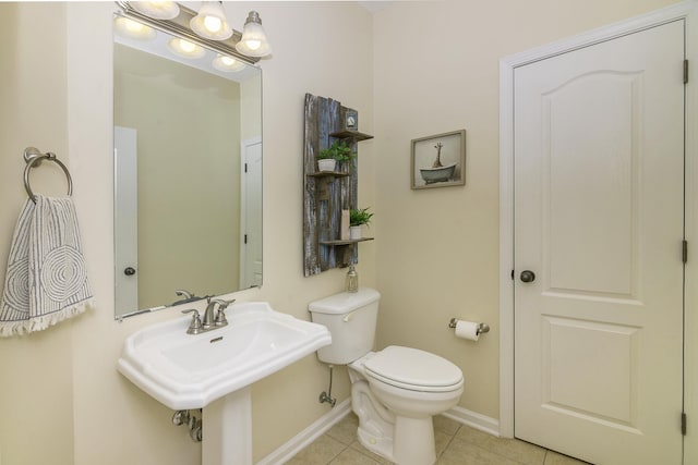
[[[274,58],[262,63],[265,274],[262,290],[237,298],[306,318],[310,301],[342,289],[342,270],[303,278],[301,250],[303,96],[338,99],[376,136],[360,146],[359,203],[376,212],[377,240],[361,245],[358,271],[383,294],[378,345],[404,343],[453,359],[467,377],[461,406],[497,417],[498,59],[667,3],[406,2],[373,23],[353,3],[254,3],[274,45]],[[252,7],[230,8],[236,23]],[[0,340],[4,465],[200,461],[200,448],[171,426],[172,413],[115,368],[128,334],[173,314],[123,323],[112,317],[112,9],[0,3],[0,37],[13,45],[2,48],[11,65],[0,69],[0,264],[25,198],[21,152],[27,145],[55,150],[75,181],[98,303],[50,330]],[[467,185],[410,191],[410,139],[458,129],[468,131]],[[60,172],[49,170],[37,170],[33,183],[61,192]],[[452,316],[486,321],[493,331],[477,344],[455,340],[445,328]],[[255,460],[327,412],[317,403],[326,375],[306,357],[254,386]],[[334,389],[347,397],[346,372]]]

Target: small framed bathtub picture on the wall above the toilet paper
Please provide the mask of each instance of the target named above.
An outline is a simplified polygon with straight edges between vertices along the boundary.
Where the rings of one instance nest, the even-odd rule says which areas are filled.
[[[412,139],[412,189],[466,184],[466,130]]]

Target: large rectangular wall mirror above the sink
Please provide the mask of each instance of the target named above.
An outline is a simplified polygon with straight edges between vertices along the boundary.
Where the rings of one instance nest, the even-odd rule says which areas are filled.
[[[177,290],[204,297],[261,285],[262,71],[200,46],[178,49],[163,30],[128,37],[121,20],[116,318],[172,305]]]

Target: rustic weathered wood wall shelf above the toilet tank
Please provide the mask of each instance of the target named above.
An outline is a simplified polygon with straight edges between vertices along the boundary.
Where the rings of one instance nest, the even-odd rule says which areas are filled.
[[[306,277],[358,262],[357,244],[373,240],[339,238],[341,210],[357,208],[358,157],[344,163],[339,171],[317,171],[316,154],[327,148],[333,138],[346,140],[357,152],[357,143],[373,138],[347,130],[347,111],[358,115],[337,100],[305,95],[303,268]]]

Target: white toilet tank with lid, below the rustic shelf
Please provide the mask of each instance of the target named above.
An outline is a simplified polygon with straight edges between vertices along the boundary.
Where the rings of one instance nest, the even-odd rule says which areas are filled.
[[[377,291],[361,287],[310,303],[313,322],[332,333],[332,344],[317,351],[321,362],[347,365],[373,350],[380,298]]]

